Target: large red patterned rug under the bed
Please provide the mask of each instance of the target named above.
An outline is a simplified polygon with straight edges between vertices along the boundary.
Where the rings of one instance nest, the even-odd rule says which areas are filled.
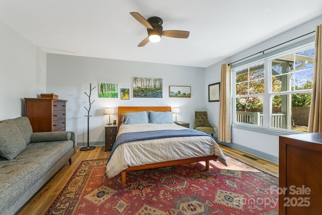
[[[106,176],[107,159],[83,161],[46,214],[278,214],[278,178],[226,156]]]

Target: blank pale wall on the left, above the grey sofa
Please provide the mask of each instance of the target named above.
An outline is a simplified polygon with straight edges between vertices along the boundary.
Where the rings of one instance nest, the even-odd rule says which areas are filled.
[[[0,120],[23,116],[23,98],[45,92],[46,53],[0,20]]]

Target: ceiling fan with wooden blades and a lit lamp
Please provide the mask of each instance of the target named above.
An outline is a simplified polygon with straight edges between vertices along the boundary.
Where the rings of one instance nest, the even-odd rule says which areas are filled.
[[[137,47],[145,46],[149,41],[158,42],[161,39],[161,36],[165,37],[174,37],[174,38],[188,38],[190,32],[189,31],[179,31],[179,30],[169,30],[164,31],[162,24],[163,20],[159,17],[150,17],[147,20],[144,19],[139,13],[131,12],[130,13],[134,19],[136,19],[139,23],[144,25],[147,30],[147,37],[140,42]]]

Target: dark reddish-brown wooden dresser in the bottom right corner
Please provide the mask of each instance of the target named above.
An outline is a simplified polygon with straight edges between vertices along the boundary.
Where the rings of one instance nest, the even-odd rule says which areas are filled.
[[[321,180],[322,133],[280,136],[279,187],[287,190],[280,191],[279,214],[321,214]]]

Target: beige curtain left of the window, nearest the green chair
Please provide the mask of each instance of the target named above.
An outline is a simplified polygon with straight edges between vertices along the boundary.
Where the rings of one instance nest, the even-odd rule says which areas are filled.
[[[219,128],[218,140],[231,141],[230,123],[230,76],[231,67],[227,63],[221,65],[220,95],[219,95]]]

